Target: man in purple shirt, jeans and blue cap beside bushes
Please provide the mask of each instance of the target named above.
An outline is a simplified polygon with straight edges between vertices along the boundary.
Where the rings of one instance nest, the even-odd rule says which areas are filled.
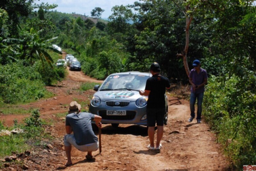
[[[190,94],[190,118],[188,122],[192,122],[195,118],[195,103],[197,99],[197,123],[201,123],[202,102],[204,85],[207,83],[207,72],[201,68],[199,60],[193,61],[194,69],[189,73],[189,83],[192,85]]]

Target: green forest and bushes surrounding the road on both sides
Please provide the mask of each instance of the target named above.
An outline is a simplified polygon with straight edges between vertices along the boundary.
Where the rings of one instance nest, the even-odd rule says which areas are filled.
[[[114,6],[110,22],[96,24],[52,11],[55,4],[33,1],[0,2],[1,104],[50,96],[44,86],[66,74],[54,65],[62,56],[52,44],[77,57],[82,71],[100,80],[114,72],[148,72],[150,64],[158,62],[172,83],[188,84],[183,61],[191,69],[193,60],[199,59],[209,75],[204,119],[232,165],[256,165],[252,0],[141,0]]]

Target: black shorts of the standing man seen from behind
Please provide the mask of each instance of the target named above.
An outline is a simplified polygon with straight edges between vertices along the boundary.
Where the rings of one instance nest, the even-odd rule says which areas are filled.
[[[165,108],[147,108],[147,126],[163,126]]]

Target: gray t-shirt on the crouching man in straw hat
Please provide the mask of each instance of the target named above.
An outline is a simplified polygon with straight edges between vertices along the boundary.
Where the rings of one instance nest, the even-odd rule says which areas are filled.
[[[86,112],[68,114],[66,116],[66,126],[71,126],[77,145],[81,146],[98,142],[98,137],[94,134],[91,127],[91,120],[93,119],[94,115]]]

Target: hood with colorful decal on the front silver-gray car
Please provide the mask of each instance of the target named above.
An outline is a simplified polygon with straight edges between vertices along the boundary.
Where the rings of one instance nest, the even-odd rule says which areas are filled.
[[[136,101],[138,98],[142,97],[139,91],[134,91],[134,90],[97,91],[94,95],[98,96],[101,101],[108,101],[108,100]]]

